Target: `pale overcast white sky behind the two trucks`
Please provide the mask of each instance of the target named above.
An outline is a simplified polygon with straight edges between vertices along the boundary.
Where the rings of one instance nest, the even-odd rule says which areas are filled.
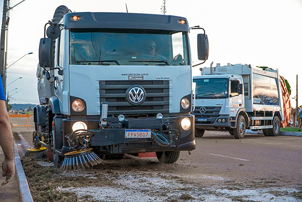
[[[10,0],[10,6],[20,1]],[[2,11],[3,0],[0,3]],[[162,14],[163,0],[25,0],[10,10],[7,65],[25,55],[7,70],[7,84],[13,82],[7,87],[10,103],[38,104],[39,41],[58,6],[65,5],[72,12],[126,12],[126,3],[129,13]],[[166,9],[166,15],[187,18],[190,27],[200,25],[209,38],[209,58],[193,68],[193,75],[212,62],[214,66],[267,66],[288,80],[294,98],[298,74],[302,105],[302,0],[166,0]],[[194,30],[189,35],[194,64],[200,63],[196,42],[200,33]],[[296,106],[295,99],[292,106]]]

